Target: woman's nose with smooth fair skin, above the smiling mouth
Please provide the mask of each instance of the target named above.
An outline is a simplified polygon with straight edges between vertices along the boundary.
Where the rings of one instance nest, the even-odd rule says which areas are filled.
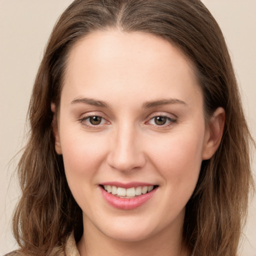
[[[107,163],[119,171],[131,171],[145,164],[141,134],[131,125],[118,128],[112,137]]]

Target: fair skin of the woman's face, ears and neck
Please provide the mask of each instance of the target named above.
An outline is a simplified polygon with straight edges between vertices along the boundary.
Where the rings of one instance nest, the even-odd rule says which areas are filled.
[[[119,30],[78,41],[53,129],[83,212],[80,255],[188,256],[181,248],[185,204],[223,123],[219,107],[205,124],[191,63],[167,41]],[[153,190],[123,198],[103,185]]]

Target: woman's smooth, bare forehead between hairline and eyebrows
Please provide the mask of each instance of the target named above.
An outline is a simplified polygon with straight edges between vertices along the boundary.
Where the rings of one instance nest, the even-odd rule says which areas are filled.
[[[143,98],[148,96],[146,90],[158,98],[169,93],[191,101],[192,94],[201,96],[197,84],[190,61],[167,40],[143,32],[106,30],[95,31],[73,46],[63,90],[84,91],[91,97],[99,92],[102,97],[109,97],[109,91],[119,97],[133,92],[148,100]]]

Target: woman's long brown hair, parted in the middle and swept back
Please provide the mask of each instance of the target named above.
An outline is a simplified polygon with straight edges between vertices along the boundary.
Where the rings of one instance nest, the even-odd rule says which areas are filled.
[[[248,131],[228,50],[216,21],[199,0],[74,0],[47,43],[30,100],[29,140],[18,164],[22,196],[13,233],[26,255],[57,255],[66,236],[82,234],[81,209],[54,150],[50,103],[58,108],[71,47],[95,30],[118,28],[164,38],[193,63],[207,120],[221,106],[221,144],[204,160],[186,205],[183,243],[194,256],[235,255],[252,182]]]

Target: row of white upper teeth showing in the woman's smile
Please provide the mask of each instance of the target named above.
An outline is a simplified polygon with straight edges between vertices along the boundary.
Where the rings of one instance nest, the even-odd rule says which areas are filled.
[[[135,195],[145,194],[153,190],[153,186],[137,186],[130,188],[116,187],[111,185],[104,185],[104,189],[111,194],[117,194],[118,196],[134,197]]]

